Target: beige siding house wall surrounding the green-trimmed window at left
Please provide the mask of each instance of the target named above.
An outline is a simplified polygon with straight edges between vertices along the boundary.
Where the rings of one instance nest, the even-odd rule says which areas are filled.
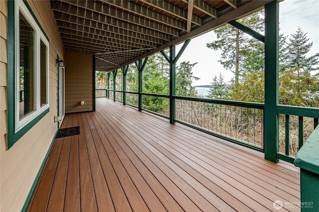
[[[7,1],[0,0],[0,211],[21,211],[57,131],[57,54],[62,42],[50,1],[27,1],[50,41],[50,111],[7,150]]]

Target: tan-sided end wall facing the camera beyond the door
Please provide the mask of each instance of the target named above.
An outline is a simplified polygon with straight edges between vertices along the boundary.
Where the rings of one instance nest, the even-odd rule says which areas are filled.
[[[65,112],[93,110],[92,55],[65,52]],[[80,102],[84,101],[81,106]]]

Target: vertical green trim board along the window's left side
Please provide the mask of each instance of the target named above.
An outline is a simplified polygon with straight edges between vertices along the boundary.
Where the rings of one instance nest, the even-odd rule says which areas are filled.
[[[14,140],[14,1],[7,1],[7,128],[8,149]]]

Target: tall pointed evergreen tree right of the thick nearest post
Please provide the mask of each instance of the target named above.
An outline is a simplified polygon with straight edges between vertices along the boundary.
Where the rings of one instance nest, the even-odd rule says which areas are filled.
[[[319,106],[319,53],[307,56],[313,46],[307,33],[298,27],[283,50],[280,71],[280,103],[294,106]]]

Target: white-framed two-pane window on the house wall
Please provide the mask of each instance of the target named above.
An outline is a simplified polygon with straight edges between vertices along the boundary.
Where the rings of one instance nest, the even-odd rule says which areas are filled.
[[[49,41],[28,4],[21,0],[14,4],[14,133],[17,133],[48,111]]]

